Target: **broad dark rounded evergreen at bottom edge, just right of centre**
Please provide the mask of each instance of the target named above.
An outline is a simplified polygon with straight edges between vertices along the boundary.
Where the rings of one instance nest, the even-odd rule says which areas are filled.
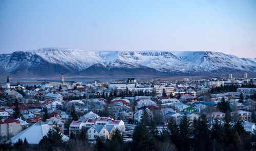
[[[133,145],[134,150],[154,150],[156,141],[148,128],[143,124],[139,124],[134,129]]]

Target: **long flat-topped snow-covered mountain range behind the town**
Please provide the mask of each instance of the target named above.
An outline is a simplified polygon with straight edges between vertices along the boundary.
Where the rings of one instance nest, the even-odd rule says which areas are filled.
[[[256,72],[256,59],[209,51],[87,51],[42,48],[0,55],[0,76],[163,77]]]

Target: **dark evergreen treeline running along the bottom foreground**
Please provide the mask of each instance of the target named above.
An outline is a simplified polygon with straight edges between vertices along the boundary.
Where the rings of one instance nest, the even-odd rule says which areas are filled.
[[[63,142],[60,133],[48,132],[37,146],[28,146],[20,141],[14,146],[2,144],[2,150],[255,150],[250,142],[256,141],[254,134],[245,132],[240,121],[230,125],[215,121],[210,126],[205,115],[190,121],[184,116],[180,125],[171,118],[167,128],[158,129],[151,121],[147,126],[138,124],[132,135],[132,141],[126,142],[117,129],[111,139],[97,138],[96,143],[89,143],[84,133],[77,138],[71,134],[70,141]],[[24,147],[26,146],[26,147]]]

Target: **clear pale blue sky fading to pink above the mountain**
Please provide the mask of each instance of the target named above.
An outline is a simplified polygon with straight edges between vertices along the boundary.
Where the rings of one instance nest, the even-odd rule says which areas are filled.
[[[256,58],[256,1],[0,1],[0,53],[216,51]]]

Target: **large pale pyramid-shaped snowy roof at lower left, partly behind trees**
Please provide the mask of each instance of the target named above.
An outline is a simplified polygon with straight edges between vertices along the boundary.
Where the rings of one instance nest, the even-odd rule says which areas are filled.
[[[38,144],[39,141],[42,139],[43,136],[47,135],[49,129],[52,128],[50,125],[45,124],[42,121],[38,121],[35,124],[28,127],[26,130],[20,132],[19,134],[13,136],[10,141],[12,143],[16,143],[18,139],[26,138],[29,144]],[[63,141],[68,141],[69,137],[66,135],[61,134]]]

